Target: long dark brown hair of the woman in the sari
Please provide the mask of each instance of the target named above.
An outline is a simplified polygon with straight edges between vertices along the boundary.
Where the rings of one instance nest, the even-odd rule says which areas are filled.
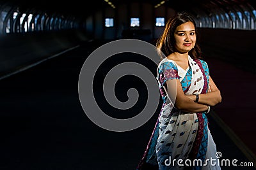
[[[157,39],[156,47],[164,53],[164,55],[167,57],[171,53],[175,52],[175,38],[174,38],[174,32],[175,29],[186,22],[192,22],[195,26],[195,32],[196,32],[196,41],[198,41],[198,31],[196,29],[196,23],[195,20],[186,12],[177,13],[174,17],[170,18],[168,22],[166,23],[166,26],[164,28],[164,32],[162,36]],[[189,55],[193,59],[200,59],[202,58],[202,52],[200,49],[200,46],[198,43],[195,44],[194,48],[189,51]],[[163,59],[163,56],[160,55]]]

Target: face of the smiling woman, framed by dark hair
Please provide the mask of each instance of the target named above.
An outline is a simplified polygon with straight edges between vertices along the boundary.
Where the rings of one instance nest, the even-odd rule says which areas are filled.
[[[189,52],[196,43],[195,25],[186,22],[179,25],[174,32],[175,48],[180,53]]]

